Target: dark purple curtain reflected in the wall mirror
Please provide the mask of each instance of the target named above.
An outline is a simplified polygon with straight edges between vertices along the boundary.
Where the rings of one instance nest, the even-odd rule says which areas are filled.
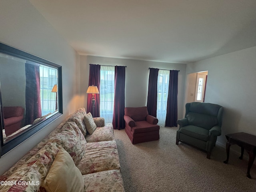
[[[32,124],[36,118],[42,116],[40,100],[40,71],[39,65],[33,62],[25,63],[26,74],[26,115],[25,125]]]

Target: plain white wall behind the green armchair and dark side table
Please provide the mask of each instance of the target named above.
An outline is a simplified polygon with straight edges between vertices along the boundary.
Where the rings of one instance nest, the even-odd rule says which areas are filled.
[[[222,135],[246,132],[256,135],[256,47],[188,64],[186,73],[206,71],[205,102],[224,107]]]

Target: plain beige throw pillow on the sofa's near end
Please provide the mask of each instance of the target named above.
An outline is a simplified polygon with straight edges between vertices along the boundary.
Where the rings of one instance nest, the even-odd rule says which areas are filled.
[[[82,192],[84,179],[70,154],[59,150],[43,183],[47,192]]]

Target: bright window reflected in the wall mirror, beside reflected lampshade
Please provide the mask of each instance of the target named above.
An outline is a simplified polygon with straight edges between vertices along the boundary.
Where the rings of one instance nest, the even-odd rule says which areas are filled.
[[[48,66],[40,66],[40,98],[42,116],[56,110],[56,94],[52,92],[57,84],[57,70]]]

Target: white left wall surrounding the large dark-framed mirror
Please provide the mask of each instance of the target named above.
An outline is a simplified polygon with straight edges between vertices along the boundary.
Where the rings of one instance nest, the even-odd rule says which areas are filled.
[[[0,175],[80,106],[79,56],[28,0],[0,3],[0,42],[62,66],[64,115],[0,158]],[[78,60],[78,61],[77,61]]]

